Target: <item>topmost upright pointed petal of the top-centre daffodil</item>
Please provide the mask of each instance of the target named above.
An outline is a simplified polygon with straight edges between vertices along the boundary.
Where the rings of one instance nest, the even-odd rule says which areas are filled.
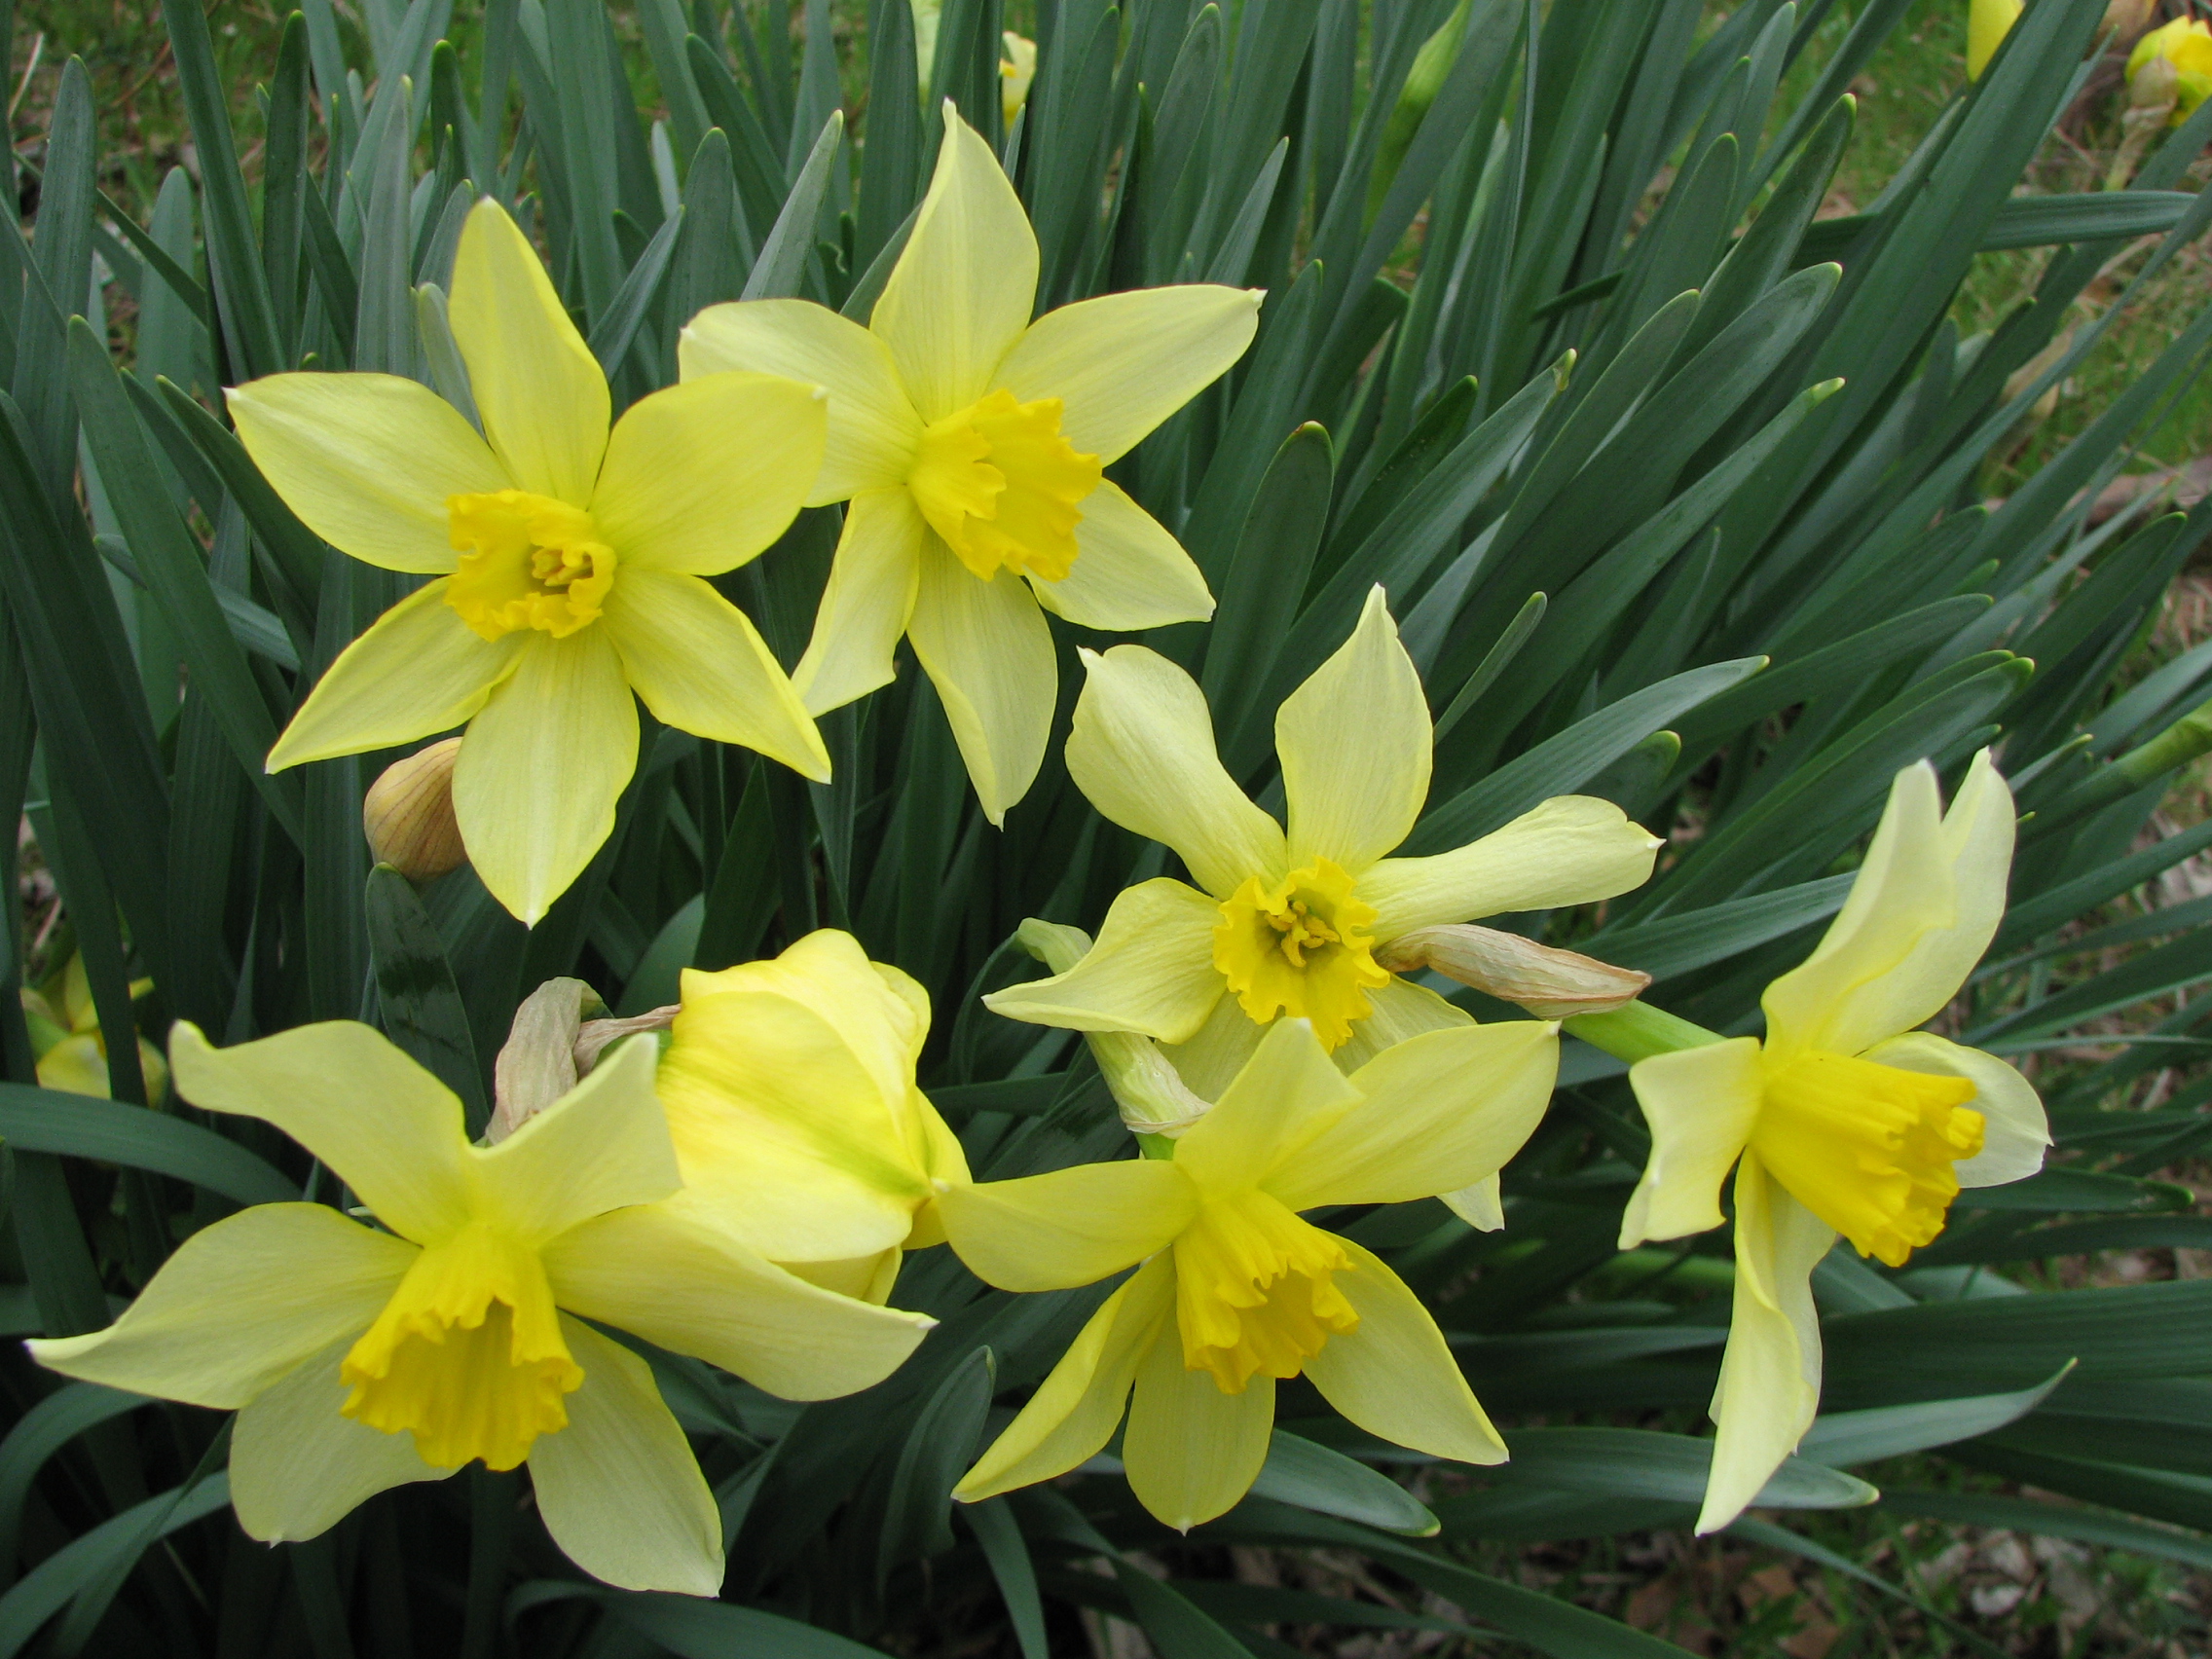
[[[922,420],[975,403],[1029,327],[1037,237],[982,135],[945,106],[945,144],[869,330]]]

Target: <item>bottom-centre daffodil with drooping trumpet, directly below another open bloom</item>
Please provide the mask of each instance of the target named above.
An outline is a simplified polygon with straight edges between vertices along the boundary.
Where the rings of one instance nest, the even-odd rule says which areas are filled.
[[[1137,1267],[953,1495],[1066,1473],[1108,1442],[1126,1407],[1130,1489],[1188,1531],[1250,1491],[1274,1385],[1292,1376],[1383,1440],[1504,1462],[1420,1298],[1298,1212],[1493,1177],[1544,1115],[1553,1033],[1542,1020],[1431,1031],[1345,1077],[1305,1020],[1283,1020],[1172,1141],[1172,1159],[942,1194],[953,1250],[1002,1290],[1066,1290]]]

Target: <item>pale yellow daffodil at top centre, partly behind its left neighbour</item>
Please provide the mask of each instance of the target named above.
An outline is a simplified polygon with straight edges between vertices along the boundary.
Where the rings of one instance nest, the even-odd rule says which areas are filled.
[[[891,679],[898,637],[936,681],[991,823],[1044,761],[1057,670],[1044,613],[1086,628],[1203,622],[1206,580],[1104,469],[1252,343],[1259,292],[1104,294],[1029,321],[1037,239],[991,146],[945,144],[869,325],[803,299],[710,305],[684,376],[759,369],[830,389],[810,504],[849,498],[792,684],[816,714]]]

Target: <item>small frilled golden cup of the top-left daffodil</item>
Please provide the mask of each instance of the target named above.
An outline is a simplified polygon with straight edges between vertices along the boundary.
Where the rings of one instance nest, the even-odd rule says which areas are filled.
[[[615,549],[591,513],[526,489],[447,495],[447,535],[460,553],[445,602],[484,639],[544,628],[566,639],[599,619],[615,586]]]

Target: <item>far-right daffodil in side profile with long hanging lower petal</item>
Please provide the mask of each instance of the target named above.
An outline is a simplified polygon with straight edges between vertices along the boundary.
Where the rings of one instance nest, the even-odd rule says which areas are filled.
[[[1986,750],[1949,812],[1936,770],[1907,768],[1820,947],[1767,987],[1765,1042],[1677,1048],[1628,1073],[1652,1150],[1624,1250],[1721,1225],[1736,1166],[1734,1318],[1701,1533],[1732,1522],[1812,1425],[1812,1270],[1836,1237],[1898,1267],[1942,1232],[1962,1186],[2042,1168],[2035,1088],[1995,1055],[1916,1031],[1989,949],[2011,860],[2013,796]]]

